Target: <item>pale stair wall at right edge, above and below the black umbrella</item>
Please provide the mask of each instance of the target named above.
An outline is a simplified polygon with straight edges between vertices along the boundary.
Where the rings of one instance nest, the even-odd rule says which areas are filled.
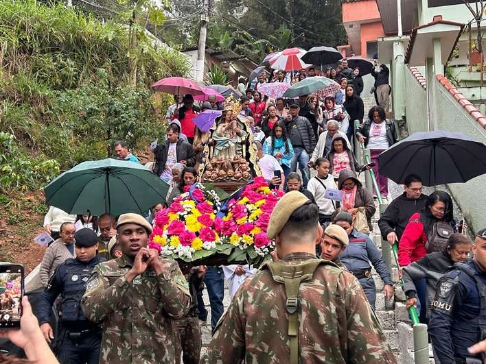
[[[461,104],[448,93],[437,79],[432,82],[435,120],[437,128],[448,132],[462,132],[486,144],[486,130],[468,114]],[[480,175],[466,183],[448,184],[473,231],[486,226],[486,175]]]

